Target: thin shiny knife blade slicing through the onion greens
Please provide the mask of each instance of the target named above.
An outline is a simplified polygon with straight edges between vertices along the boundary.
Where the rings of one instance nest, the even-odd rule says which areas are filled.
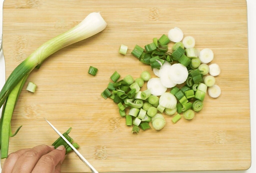
[[[98,173],[98,171],[83,157],[83,155],[47,120],[46,122],[58,133],[58,135],[74,150],[76,155],[85,163],[92,172]]]

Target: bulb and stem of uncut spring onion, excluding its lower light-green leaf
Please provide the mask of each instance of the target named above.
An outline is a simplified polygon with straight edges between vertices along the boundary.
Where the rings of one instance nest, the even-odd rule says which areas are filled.
[[[0,107],[3,105],[9,93],[19,83],[22,78],[40,65],[48,56],[57,52],[63,47],[84,40],[95,35],[106,27],[106,22],[100,13],[89,14],[82,22],[71,30],[56,36],[41,45],[35,52],[28,56],[20,65],[18,65],[6,80],[3,89],[0,92]]]

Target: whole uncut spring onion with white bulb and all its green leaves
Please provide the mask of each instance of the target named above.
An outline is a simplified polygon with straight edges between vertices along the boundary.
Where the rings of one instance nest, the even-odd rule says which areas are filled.
[[[62,33],[55,38],[42,44],[37,50],[29,55],[22,63],[20,63],[10,74],[6,80],[2,90],[0,91],[0,107],[4,104],[9,94],[14,90],[13,97],[8,98],[9,104],[5,106],[3,115],[2,127],[1,127],[1,153],[2,158],[6,158],[8,155],[8,140],[10,128],[10,119],[12,117],[14,105],[16,104],[18,95],[26,81],[26,76],[35,68],[40,67],[42,62],[62,49],[63,47],[69,46],[73,43],[84,40],[92,35],[95,35],[106,28],[106,22],[100,15],[100,13],[90,13],[83,21],[77,26],[73,27],[69,31]],[[16,92],[16,91],[19,92]],[[7,102],[6,102],[7,104]],[[10,108],[8,108],[10,107]],[[10,111],[12,109],[12,111]],[[7,121],[5,121],[7,120]]]

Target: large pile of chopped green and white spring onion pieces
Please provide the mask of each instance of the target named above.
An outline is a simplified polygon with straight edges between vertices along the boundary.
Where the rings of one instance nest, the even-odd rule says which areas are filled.
[[[173,123],[182,117],[191,120],[195,112],[202,110],[207,91],[212,98],[221,94],[216,84],[220,67],[216,63],[208,65],[214,59],[212,50],[204,48],[200,51],[195,48],[194,37],[183,36],[182,30],[175,27],[159,39],[153,38],[152,43],[144,48],[135,45],[131,54],[142,63],[149,64],[157,77],[150,78],[146,71],[135,80],[128,75],[130,80],[126,76],[117,81],[118,74],[116,80],[111,78],[115,83],[108,87],[112,93],[103,91],[104,98],[110,97],[118,103],[119,112],[123,113],[120,115],[126,116],[126,125],[134,125],[133,133],[139,132],[137,127],[143,130],[150,128],[149,122],[155,130],[161,130],[166,125],[163,114],[174,115]],[[170,42],[174,45],[168,51]],[[140,91],[145,81],[147,90]],[[130,109],[128,115],[124,113],[126,108]]]

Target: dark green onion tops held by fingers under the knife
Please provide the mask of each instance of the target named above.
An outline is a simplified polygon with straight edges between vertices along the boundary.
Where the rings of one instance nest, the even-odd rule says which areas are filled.
[[[72,130],[72,128],[70,127],[65,133],[63,133],[62,135],[76,148],[79,148],[79,145],[76,142],[73,142],[73,139],[68,135],[70,133],[70,131]],[[64,141],[64,139],[62,139],[61,137],[59,137],[54,143],[52,143],[51,145],[54,146],[54,148],[58,148],[60,145],[64,145],[66,148],[66,154],[70,153],[73,149]]]

